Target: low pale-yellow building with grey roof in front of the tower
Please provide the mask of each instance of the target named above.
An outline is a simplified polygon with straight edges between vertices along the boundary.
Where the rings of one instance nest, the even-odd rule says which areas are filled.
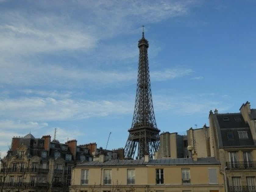
[[[76,165],[71,192],[224,191],[215,158],[108,160]]]

